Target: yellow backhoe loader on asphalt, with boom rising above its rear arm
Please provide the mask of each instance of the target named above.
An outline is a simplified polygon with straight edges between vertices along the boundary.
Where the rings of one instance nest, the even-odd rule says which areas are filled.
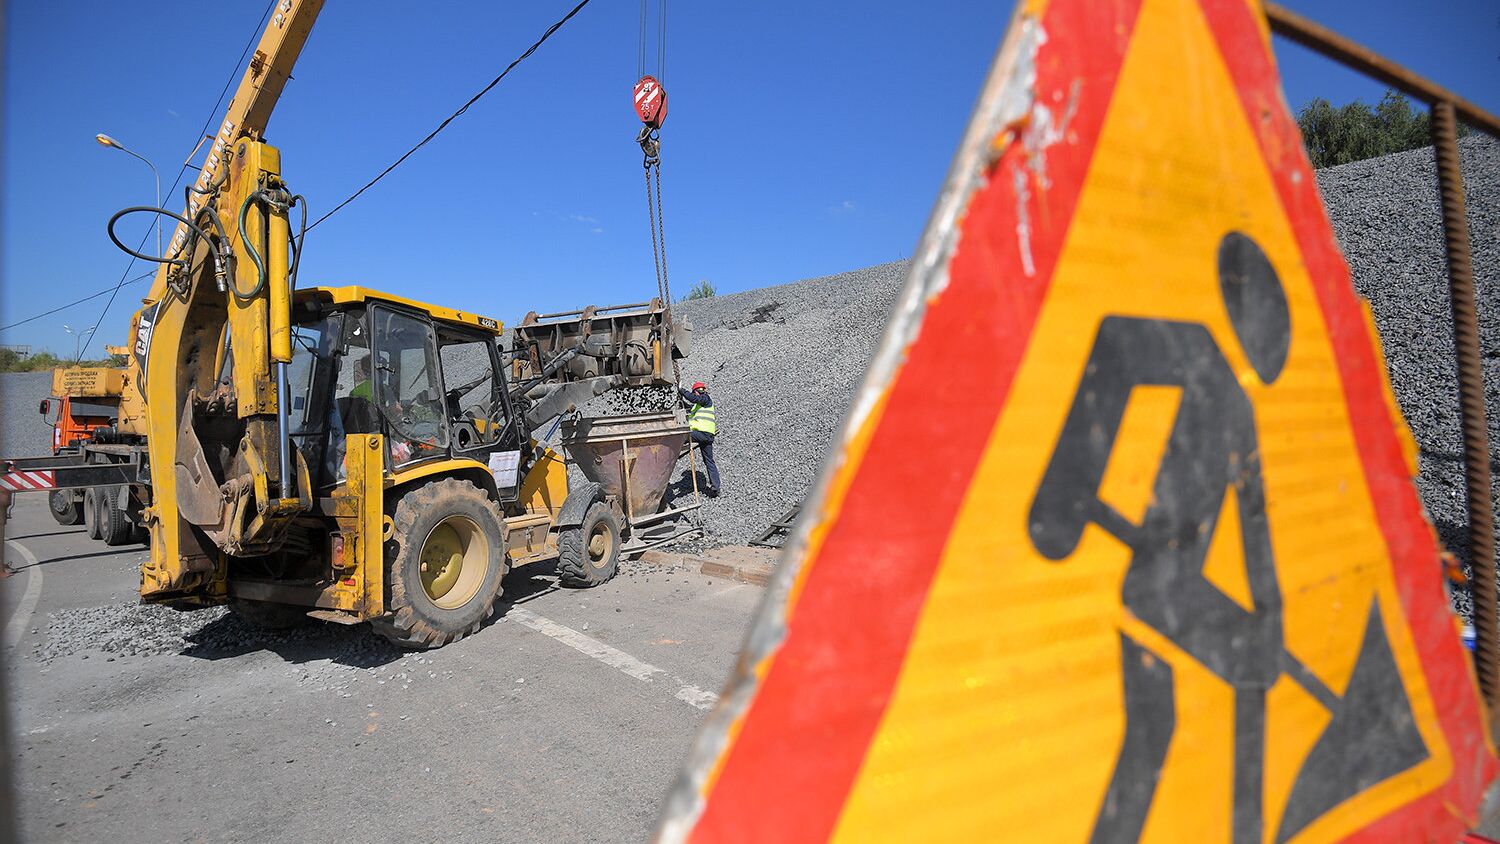
[[[162,265],[132,319],[144,408],[122,418],[147,444],[141,598],[228,604],[264,627],[369,621],[441,646],[478,628],[513,565],[556,558],[585,586],[614,574],[620,502],[570,490],[530,432],[604,388],[670,382],[686,343],[652,301],[580,319],[576,342],[531,345],[518,367],[500,322],[466,309],[296,289],[291,211],[306,223],[306,205],[262,133],[320,7],[276,9],[186,214],[116,216],[178,222],[168,253],[146,256]]]

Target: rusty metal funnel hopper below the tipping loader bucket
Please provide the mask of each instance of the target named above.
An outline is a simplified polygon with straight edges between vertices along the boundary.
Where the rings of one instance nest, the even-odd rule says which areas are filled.
[[[564,420],[562,448],[588,480],[620,499],[634,525],[662,507],[687,433],[675,412]]]

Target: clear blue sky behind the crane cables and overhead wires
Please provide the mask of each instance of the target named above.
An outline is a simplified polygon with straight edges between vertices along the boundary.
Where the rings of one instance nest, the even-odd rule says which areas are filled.
[[[1500,111],[1492,0],[1287,4]],[[267,132],[291,186],[315,217],[332,208],[568,7],[328,0]],[[909,255],[1010,7],[669,3],[663,169],[674,292],[699,279],[732,292]],[[261,0],[8,3],[0,325],[120,277],[128,258],[105,222],[120,207],[152,204],[152,177],[94,133],[152,159],[165,190],[264,9]],[[594,0],[312,232],[303,283],[358,282],[506,321],[652,295],[628,99],[638,13],[638,3]],[[1312,96],[1374,102],[1383,91],[1294,45],[1276,51],[1293,106]],[[168,204],[180,205],[180,193]],[[122,229],[140,237],[144,223]],[[123,342],[144,289],[122,291],[94,352]],[[63,325],[92,324],[102,304],[3,331],[0,342],[70,354]]]

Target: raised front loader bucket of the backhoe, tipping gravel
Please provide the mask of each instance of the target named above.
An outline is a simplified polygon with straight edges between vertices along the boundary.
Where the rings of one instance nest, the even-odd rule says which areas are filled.
[[[672,319],[660,298],[561,313],[531,312],[516,327],[513,382],[573,382],[618,376],[616,385],[672,384],[672,361],[687,357],[693,325]],[[562,361],[560,358],[566,357]]]

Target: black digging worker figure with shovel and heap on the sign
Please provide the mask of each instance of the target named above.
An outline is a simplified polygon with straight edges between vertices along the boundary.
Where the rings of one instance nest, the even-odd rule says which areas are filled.
[[[1264,252],[1242,232],[1218,247],[1218,285],[1228,322],[1262,384],[1274,384],[1292,342],[1281,280]],[[1170,435],[1138,523],[1100,498],[1100,484],[1137,388],[1178,391]],[[1220,519],[1228,502],[1238,519]],[[1256,411],[1233,367],[1203,324],[1106,316],[1098,327],[1032,502],[1032,544],[1066,561],[1094,523],[1131,550],[1120,586],[1128,624],[1120,630],[1125,739],[1090,841],[1136,841],[1146,823],[1178,720],[1166,654],[1131,636],[1134,624],[1166,637],[1234,690],[1233,841],[1263,841],[1266,694],[1286,673],[1332,715],[1304,768],[1276,841],[1286,841],[1334,804],[1426,759],[1380,613],[1371,607],[1347,700],[1340,700],[1282,640],[1281,586],[1266,519]],[[1236,600],[1204,576],[1220,531],[1234,531],[1242,552]],[[1244,601],[1244,603],[1242,603]],[[1380,741],[1386,753],[1358,753]],[[1353,787],[1352,790],[1348,787]]]

